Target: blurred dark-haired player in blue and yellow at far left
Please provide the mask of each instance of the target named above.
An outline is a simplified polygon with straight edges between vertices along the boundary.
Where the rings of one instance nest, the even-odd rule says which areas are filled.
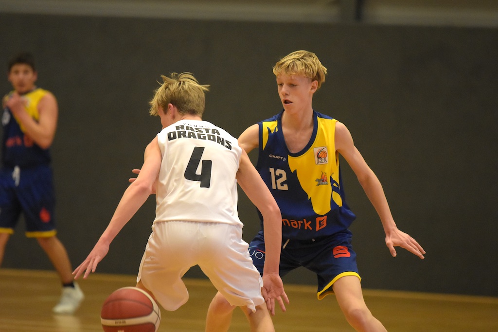
[[[57,314],[71,314],[84,298],[73,281],[71,263],[56,236],[55,195],[49,147],[57,126],[57,100],[37,88],[37,72],[30,53],[21,53],[8,63],[8,81],[13,91],[2,99],[3,126],[0,169],[0,264],[5,245],[20,214],[26,221],[26,236],[37,239],[57,270],[63,285]]]

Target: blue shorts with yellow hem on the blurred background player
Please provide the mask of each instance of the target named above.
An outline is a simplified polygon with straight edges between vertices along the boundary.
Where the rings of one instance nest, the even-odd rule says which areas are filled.
[[[54,208],[50,166],[0,170],[0,232],[13,233],[22,213],[26,236],[53,236],[56,233]]]

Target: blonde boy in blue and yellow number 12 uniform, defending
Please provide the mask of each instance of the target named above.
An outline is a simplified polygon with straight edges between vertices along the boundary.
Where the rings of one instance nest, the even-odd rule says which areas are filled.
[[[425,251],[397,228],[382,186],[355,147],[348,128],[313,110],[313,94],[327,74],[318,57],[308,51],[292,52],[275,64],[273,73],[284,110],[246,129],[239,144],[247,152],[258,148],[256,169],[282,214],[280,275],[299,266],[313,271],[318,277],[318,299],[335,293],[355,330],[386,331],[363,299],[348,229],[355,215],[346,204],[339,154],[378,213],[391,255],[396,256],[395,246],[420,258]],[[249,245],[258,270],[264,263],[263,240],[261,229]],[[208,311],[206,331],[228,331],[232,310],[218,293]]]

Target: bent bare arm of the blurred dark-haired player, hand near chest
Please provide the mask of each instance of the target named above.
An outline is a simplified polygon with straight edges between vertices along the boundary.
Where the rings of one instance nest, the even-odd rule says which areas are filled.
[[[5,105],[15,118],[22,124],[25,134],[43,149],[50,147],[54,140],[57,128],[59,109],[54,95],[47,93],[38,103],[38,121],[34,120],[26,111],[24,99],[14,92]]]

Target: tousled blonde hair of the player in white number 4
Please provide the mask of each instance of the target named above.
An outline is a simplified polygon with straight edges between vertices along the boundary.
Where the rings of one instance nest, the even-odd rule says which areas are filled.
[[[171,73],[170,77],[161,75],[163,83],[154,91],[149,102],[150,115],[159,115],[159,108],[166,110],[168,104],[174,105],[180,114],[202,116],[209,85],[200,85],[191,73]]]

